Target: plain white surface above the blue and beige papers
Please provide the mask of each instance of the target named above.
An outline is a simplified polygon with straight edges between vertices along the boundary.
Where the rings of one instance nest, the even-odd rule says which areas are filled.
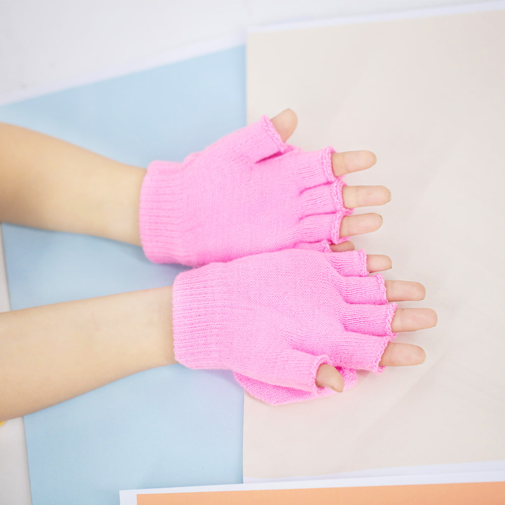
[[[249,26],[370,14],[461,0],[2,0],[0,104],[123,75],[166,53]],[[205,51],[205,49],[204,49]]]

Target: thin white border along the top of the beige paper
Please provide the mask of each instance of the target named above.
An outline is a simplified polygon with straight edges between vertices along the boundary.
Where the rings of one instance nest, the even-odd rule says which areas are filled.
[[[253,26],[247,33],[264,33],[272,31],[298,30],[300,28],[319,28],[322,26],[350,25],[358,23],[377,23],[379,21],[396,21],[402,19],[427,18],[434,16],[447,16],[450,14],[466,14],[505,9],[504,0],[494,2],[479,2],[464,5],[442,7],[429,7],[424,9],[411,9],[408,11],[393,11],[376,14],[358,14],[354,16],[341,16],[330,19],[311,21],[294,21],[288,23],[274,23],[271,25]]]

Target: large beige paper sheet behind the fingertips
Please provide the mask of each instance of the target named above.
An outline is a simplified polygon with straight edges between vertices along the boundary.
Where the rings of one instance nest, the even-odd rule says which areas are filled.
[[[252,33],[248,120],[290,107],[306,149],[370,149],[389,279],[418,280],[424,365],[271,407],[246,397],[244,478],[505,459],[505,11]],[[365,209],[359,212],[371,212]]]

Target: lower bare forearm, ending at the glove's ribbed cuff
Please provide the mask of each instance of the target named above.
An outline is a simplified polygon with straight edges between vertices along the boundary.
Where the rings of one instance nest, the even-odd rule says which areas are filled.
[[[0,314],[0,421],[176,363],[172,288]]]

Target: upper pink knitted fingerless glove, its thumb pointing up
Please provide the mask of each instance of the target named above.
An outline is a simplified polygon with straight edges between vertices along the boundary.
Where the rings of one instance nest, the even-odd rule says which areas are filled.
[[[149,164],[139,228],[147,258],[198,266],[340,243],[341,177],[331,154],[284,143],[264,116],[182,163]]]

